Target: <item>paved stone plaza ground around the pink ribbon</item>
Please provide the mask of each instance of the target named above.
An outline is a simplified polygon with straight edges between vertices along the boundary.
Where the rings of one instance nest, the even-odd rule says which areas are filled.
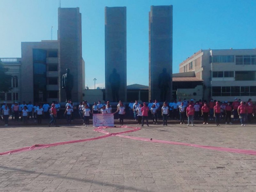
[[[150,125],[127,135],[256,150],[255,133],[255,125],[171,124]],[[83,125],[0,126],[0,135],[4,152],[102,133]],[[0,191],[253,192],[256,156],[114,136],[0,156]]]

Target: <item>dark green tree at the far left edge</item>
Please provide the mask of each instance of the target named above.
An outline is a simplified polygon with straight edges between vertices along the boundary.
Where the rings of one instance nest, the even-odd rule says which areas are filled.
[[[12,89],[12,76],[6,74],[8,70],[9,68],[5,68],[4,64],[0,61],[0,92],[8,92]]]

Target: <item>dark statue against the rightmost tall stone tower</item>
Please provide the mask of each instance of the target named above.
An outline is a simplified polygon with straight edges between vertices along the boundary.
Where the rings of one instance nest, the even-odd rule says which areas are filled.
[[[166,95],[171,82],[171,76],[167,73],[166,68],[163,68],[163,72],[158,77],[158,88],[160,89],[160,101],[166,100]]]

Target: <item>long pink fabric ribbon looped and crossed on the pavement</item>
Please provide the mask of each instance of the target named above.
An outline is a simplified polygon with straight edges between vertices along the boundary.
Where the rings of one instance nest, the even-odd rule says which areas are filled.
[[[34,150],[34,149],[54,147],[54,146],[65,145],[65,144],[70,144],[70,143],[78,143],[78,142],[98,140],[98,139],[103,139],[103,138],[110,137],[110,136],[118,136],[118,137],[122,137],[122,138],[127,138],[127,139],[132,139],[132,140],[148,141],[148,142],[153,142],[153,143],[164,143],[164,144],[172,144],[172,145],[185,145],[185,146],[190,146],[190,147],[211,149],[211,150],[217,150],[217,151],[226,151],[226,152],[231,152],[231,153],[240,153],[240,154],[246,154],[246,155],[256,155],[256,150],[196,145],[196,144],[190,144],[190,143],[182,143],[182,142],[175,142],[175,141],[165,141],[165,140],[156,140],[156,139],[149,139],[149,138],[143,138],[143,137],[134,137],[134,136],[122,135],[124,133],[138,131],[138,130],[141,129],[140,127],[121,126],[121,127],[117,127],[117,128],[129,128],[129,129],[132,128],[132,129],[124,131],[124,132],[116,132],[116,133],[110,133],[108,131],[105,131],[104,129],[107,129],[107,128],[115,128],[115,127],[103,127],[103,126],[101,126],[101,127],[98,127],[96,129],[94,129],[93,131],[105,134],[103,136],[99,136],[99,137],[95,137],[95,138],[89,138],[89,139],[83,139],[83,140],[63,141],[63,142],[57,142],[57,143],[51,143],[51,144],[36,144],[36,145],[32,145],[30,147],[24,147],[24,148],[19,148],[19,149],[11,150],[11,151],[6,151],[6,152],[3,152],[3,153],[0,153],[0,155],[12,154],[12,153],[18,153],[18,152],[24,152],[24,151],[30,151],[30,150]]]

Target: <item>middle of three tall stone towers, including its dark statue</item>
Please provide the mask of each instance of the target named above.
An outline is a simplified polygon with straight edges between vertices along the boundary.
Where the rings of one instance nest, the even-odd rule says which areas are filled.
[[[126,101],[126,7],[105,7],[106,100]]]

